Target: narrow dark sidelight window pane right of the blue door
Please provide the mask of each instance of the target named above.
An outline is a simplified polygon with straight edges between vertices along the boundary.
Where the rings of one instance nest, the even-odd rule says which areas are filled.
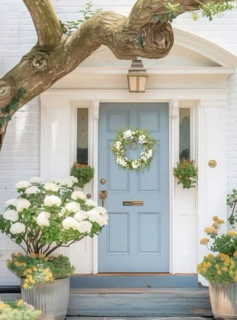
[[[190,160],[190,108],[179,108],[179,159]]]

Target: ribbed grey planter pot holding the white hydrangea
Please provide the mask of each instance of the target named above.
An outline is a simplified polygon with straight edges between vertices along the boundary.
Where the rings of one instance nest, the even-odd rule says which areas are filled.
[[[21,297],[42,311],[40,320],[64,320],[69,298],[69,277],[50,283],[36,283],[32,289],[24,289],[23,282],[24,278],[21,278]]]

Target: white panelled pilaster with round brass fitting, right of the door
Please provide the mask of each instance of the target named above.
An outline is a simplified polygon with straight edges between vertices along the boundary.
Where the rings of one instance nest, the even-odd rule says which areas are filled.
[[[198,262],[209,251],[199,245],[212,216],[226,220],[226,100],[200,100],[198,105]],[[208,166],[214,159],[216,167]],[[199,277],[203,285],[207,281]]]

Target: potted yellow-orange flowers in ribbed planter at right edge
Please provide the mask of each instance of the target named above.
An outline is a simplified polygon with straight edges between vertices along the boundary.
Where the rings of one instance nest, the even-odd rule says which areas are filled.
[[[207,237],[202,238],[200,244],[206,245],[216,254],[207,254],[197,265],[197,272],[209,282],[214,316],[225,320],[237,318],[237,233],[233,229],[233,224],[236,222],[236,212],[234,212],[236,201],[237,192],[234,196],[227,197],[227,203],[233,207],[228,219],[232,229],[222,233],[221,224],[224,221],[216,215],[212,218],[212,226],[204,229]]]

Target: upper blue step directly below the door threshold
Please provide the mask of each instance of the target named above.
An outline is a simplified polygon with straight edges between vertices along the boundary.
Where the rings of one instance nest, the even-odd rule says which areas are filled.
[[[200,288],[196,274],[81,274],[70,278],[71,288]]]

